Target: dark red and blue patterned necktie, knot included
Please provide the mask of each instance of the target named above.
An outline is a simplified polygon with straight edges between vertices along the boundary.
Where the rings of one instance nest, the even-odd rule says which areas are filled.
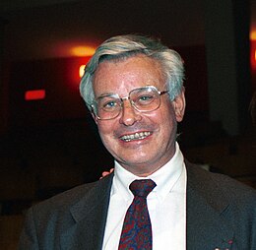
[[[119,250],[152,249],[152,227],[147,196],[156,187],[153,180],[135,180],[130,184],[134,199],[128,208],[119,242]]]

